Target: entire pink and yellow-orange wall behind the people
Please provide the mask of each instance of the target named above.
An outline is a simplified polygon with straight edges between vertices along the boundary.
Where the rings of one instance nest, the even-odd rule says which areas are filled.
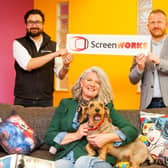
[[[0,102],[13,102],[15,79],[12,41],[25,33],[23,15],[33,7],[40,8],[46,15],[45,30],[56,39],[56,4],[63,0],[1,0],[0,5]],[[67,1],[67,0],[65,0]],[[21,3],[20,3],[21,2]],[[70,33],[93,34],[136,34],[137,0],[69,0]],[[153,8],[161,8],[168,13],[168,1],[153,0]],[[131,57],[74,55],[69,72],[69,86],[73,85],[79,74],[92,65],[101,66],[109,75],[114,103],[118,109],[133,109],[139,106],[137,86],[128,81]],[[54,103],[57,105],[70,91],[55,91]]]

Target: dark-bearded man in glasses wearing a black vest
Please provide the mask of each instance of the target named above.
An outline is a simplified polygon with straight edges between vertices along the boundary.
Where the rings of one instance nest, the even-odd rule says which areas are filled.
[[[63,79],[72,56],[66,49],[56,51],[56,42],[43,31],[44,14],[38,9],[25,16],[26,35],[13,42],[15,58],[15,100],[23,106],[52,106],[54,72]]]

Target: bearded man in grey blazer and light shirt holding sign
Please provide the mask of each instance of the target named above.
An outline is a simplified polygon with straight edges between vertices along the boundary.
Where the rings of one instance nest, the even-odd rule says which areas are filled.
[[[152,37],[152,51],[134,57],[129,79],[132,84],[141,80],[140,108],[168,106],[168,37],[167,15],[157,9],[150,12],[148,30]]]

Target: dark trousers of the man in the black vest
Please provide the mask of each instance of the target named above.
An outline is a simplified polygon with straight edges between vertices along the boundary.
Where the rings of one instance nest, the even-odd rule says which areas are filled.
[[[48,100],[31,100],[15,97],[15,105],[22,105],[24,107],[48,107],[53,106],[52,99]]]

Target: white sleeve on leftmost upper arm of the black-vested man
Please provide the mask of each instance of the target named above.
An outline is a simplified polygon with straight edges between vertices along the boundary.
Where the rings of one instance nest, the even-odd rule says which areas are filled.
[[[21,68],[27,70],[27,65],[31,59],[28,51],[16,40],[13,42],[13,56]]]

